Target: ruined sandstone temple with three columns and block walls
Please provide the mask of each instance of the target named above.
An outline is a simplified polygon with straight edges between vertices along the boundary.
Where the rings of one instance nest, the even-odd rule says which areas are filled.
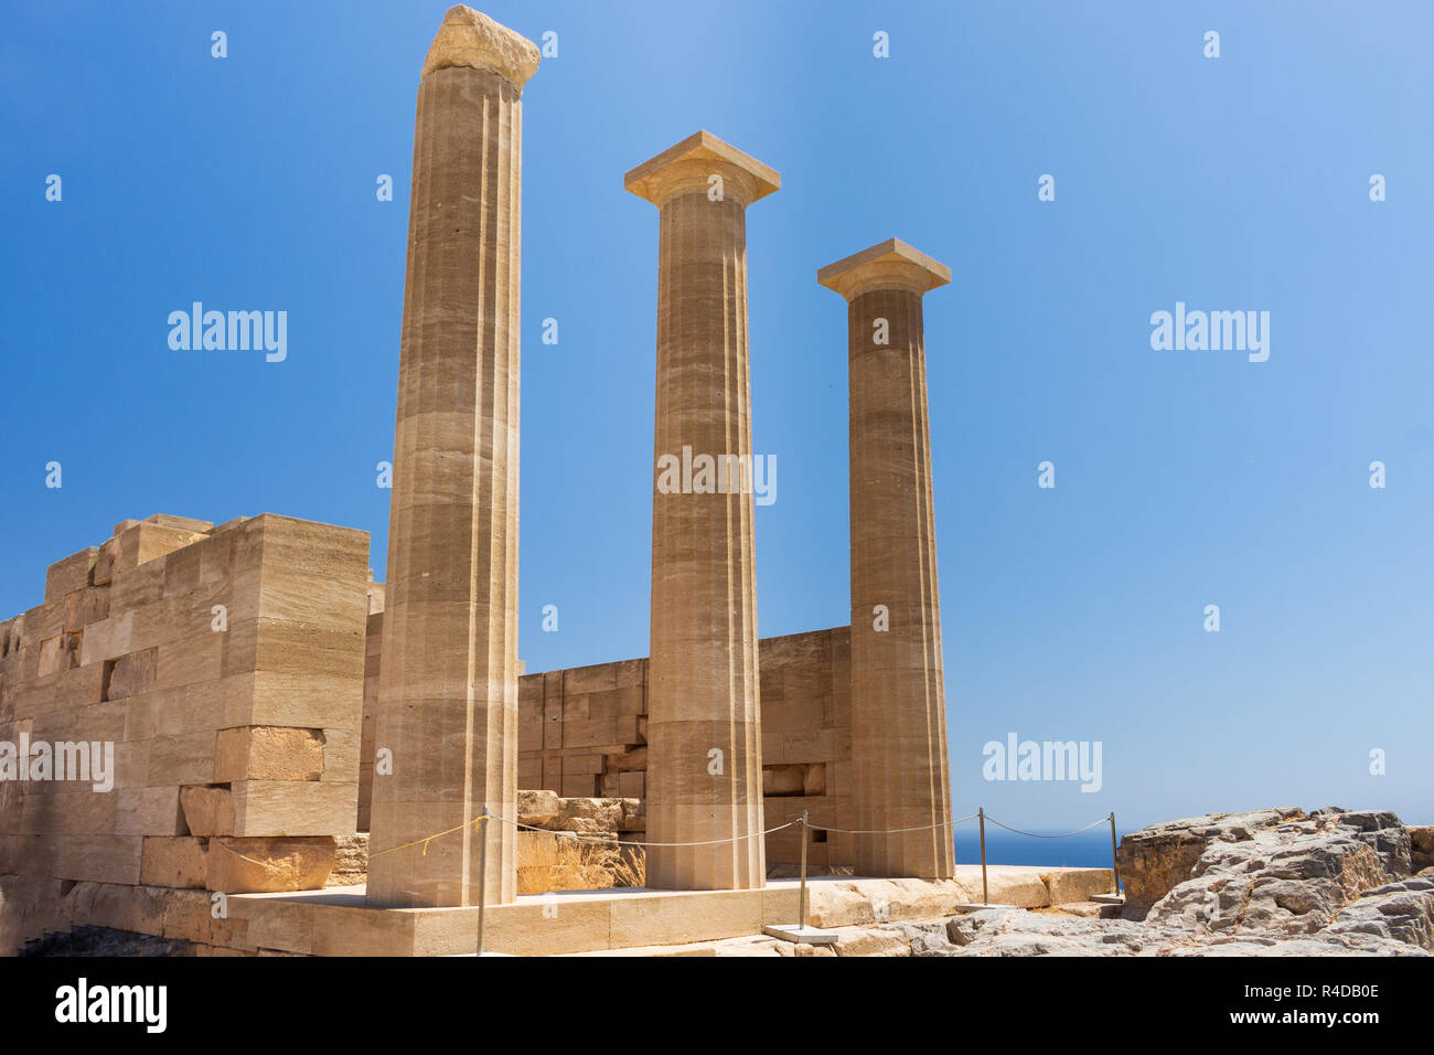
[[[513,821],[652,843],[664,890],[761,890],[802,840],[817,870],[952,877],[922,327],[949,268],[889,240],[817,274],[849,320],[852,620],[760,640],[746,211],[780,175],[707,132],[624,185],[658,210],[660,461],[695,451],[740,479],[654,485],[648,657],[522,672],[536,66],[462,6],[423,63],[387,581],[364,531],[159,514],[50,566],[43,601],[0,623],[6,950],[96,919],[224,947],[217,894],[364,874],[373,907],[512,903],[519,838],[542,838]],[[109,772],[26,768],[40,744]]]

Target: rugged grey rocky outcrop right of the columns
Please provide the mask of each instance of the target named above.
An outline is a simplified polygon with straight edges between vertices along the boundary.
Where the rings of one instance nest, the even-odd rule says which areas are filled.
[[[1410,874],[1424,831],[1334,807],[1210,814],[1124,838],[1121,917],[1077,904],[878,926],[912,956],[1428,956],[1434,873]]]

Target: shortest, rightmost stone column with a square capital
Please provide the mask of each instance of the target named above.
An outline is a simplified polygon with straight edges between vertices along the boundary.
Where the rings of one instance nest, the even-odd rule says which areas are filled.
[[[817,271],[847,306],[852,817],[859,876],[954,874],[921,299],[951,268],[892,238]]]

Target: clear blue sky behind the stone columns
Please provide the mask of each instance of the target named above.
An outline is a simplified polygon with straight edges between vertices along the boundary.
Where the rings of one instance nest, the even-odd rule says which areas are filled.
[[[926,353],[958,811],[1434,822],[1434,9],[479,6],[559,44],[523,96],[529,670],[647,653],[657,212],[622,174],[706,128],[783,177],[747,215],[764,636],[849,619],[846,311],[816,270],[898,235],[954,273]],[[152,512],[363,528],[383,577],[443,10],[10,6],[0,614]],[[171,350],[194,300],[288,311],[288,359]],[[1176,301],[1268,310],[1269,360],[1152,350]],[[1104,788],[982,781],[1008,732],[1100,741]]]

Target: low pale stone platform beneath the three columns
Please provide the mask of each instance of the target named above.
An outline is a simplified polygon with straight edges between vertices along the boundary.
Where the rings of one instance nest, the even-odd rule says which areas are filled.
[[[1044,907],[1110,890],[1108,868],[992,866],[991,897]],[[594,890],[519,896],[489,906],[485,952],[516,956],[604,953],[678,946],[749,934],[790,923],[797,880],[763,890]],[[852,927],[949,916],[979,896],[979,866],[958,866],[955,880],[878,880],[846,876],[807,880],[807,922]],[[102,926],[195,942],[202,955],[453,956],[475,950],[478,909],[374,909],[364,887],[282,894],[231,894],[214,919],[198,890],[79,884],[66,899],[66,926]]]

